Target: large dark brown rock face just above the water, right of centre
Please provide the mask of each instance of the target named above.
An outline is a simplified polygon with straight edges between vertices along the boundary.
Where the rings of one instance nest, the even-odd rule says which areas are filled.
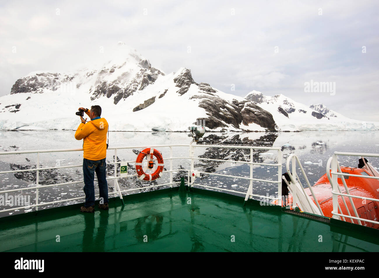
[[[190,99],[201,99],[199,107],[207,111],[208,118],[205,119],[205,126],[210,129],[227,127],[231,124],[236,129],[240,129],[240,124],[258,124],[269,130],[275,130],[275,121],[271,113],[251,103],[251,101],[237,101],[232,103],[217,96],[194,95]]]

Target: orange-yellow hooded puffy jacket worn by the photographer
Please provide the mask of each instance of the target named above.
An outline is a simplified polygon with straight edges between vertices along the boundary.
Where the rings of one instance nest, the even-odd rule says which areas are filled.
[[[90,110],[86,112],[89,116]],[[108,122],[105,118],[80,123],[75,132],[76,140],[83,140],[83,157],[88,160],[101,160],[106,157],[106,132]]]

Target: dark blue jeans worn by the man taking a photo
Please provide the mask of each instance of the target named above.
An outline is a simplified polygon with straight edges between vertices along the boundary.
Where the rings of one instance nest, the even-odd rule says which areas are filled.
[[[102,160],[88,160],[83,158],[84,193],[86,194],[85,207],[95,205],[95,172],[99,183],[100,198],[104,198],[104,203],[108,203],[108,183],[106,183],[106,162]]]

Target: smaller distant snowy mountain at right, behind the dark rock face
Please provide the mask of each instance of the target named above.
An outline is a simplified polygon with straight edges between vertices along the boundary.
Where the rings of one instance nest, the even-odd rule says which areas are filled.
[[[352,120],[323,104],[298,103],[284,95],[265,96],[252,91],[245,96],[273,115],[280,130],[377,130],[379,123]]]

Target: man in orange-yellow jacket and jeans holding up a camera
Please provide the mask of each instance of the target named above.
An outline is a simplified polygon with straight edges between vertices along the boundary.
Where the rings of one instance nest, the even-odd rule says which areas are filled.
[[[83,175],[84,192],[86,202],[80,208],[83,212],[95,211],[95,172],[99,183],[100,203],[99,208],[108,210],[108,184],[106,182],[106,132],[108,123],[105,118],[100,118],[101,107],[91,106],[91,110],[80,107],[89,116],[91,121],[80,116],[81,124],[75,132],[75,139],[83,139]]]

